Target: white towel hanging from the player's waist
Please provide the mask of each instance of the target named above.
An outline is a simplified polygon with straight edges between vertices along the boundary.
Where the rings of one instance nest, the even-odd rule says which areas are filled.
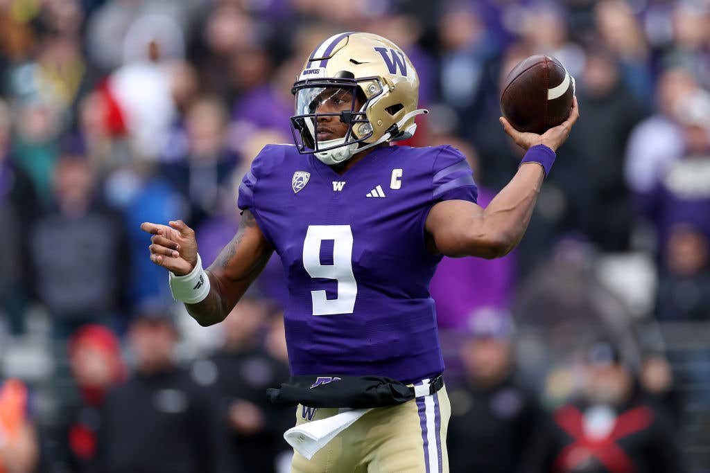
[[[283,434],[293,450],[310,460],[316,452],[371,409],[340,409],[335,416],[296,425]]]

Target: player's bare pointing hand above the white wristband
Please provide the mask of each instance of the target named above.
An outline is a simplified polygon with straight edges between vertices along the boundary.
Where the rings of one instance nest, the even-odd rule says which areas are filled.
[[[197,265],[195,231],[182,220],[168,222],[170,226],[143,222],[141,230],[151,237],[151,261],[169,269],[175,276],[184,276]]]

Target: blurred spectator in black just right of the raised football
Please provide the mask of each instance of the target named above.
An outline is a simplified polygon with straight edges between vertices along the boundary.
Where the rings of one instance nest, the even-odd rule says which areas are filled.
[[[628,135],[645,114],[621,74],[611,52],[586,51],[584,69],[577,77],[584,121],[567,143],[574,172],[584,169],[584,179],[578,179],[574,189],[569,187],[574,182],[571,176],[561,179],[567,184],[570,205],[579,209],[578,229],[608,252],[628,249],[633,206],[623,179],[623,155]],[[604,139],[595,139],[596,133]]]

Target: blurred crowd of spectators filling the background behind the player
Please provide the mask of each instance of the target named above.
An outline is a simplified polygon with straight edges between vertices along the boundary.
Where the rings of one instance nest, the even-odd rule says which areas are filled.
[[[520,246],[432,280],[452,471],[710,471],[710,1],[0,0],[0,472],[288,471],[278,260],[200,328],[139,225],[182,218],[207,267],[342,30],[407,52],[406,144],[457,146],[483,206],[523,154],[508,71],[577,79]]]

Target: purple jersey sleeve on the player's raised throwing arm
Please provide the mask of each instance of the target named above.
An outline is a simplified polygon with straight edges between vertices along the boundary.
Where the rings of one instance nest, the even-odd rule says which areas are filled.
[[[453,146],[442,146],[434,161],[432,177],[433,199],[471,201],[476,204],[479,188],[474,182],[474,172],[466,157]]]

